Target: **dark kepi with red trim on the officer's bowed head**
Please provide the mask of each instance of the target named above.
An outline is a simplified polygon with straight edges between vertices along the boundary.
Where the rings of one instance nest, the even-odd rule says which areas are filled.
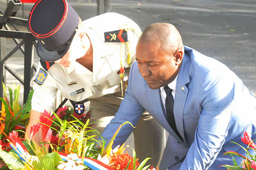
[[[79,16],[66,0],[38,0],[29,13],[29,31],[38,40],[38,57],[61,59],[68,51],[79,25]]]

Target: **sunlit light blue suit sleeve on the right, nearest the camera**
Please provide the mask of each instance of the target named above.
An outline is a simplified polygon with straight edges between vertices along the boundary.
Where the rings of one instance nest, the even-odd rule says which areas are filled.
[[[180,170],[207,170],[215,161],[227,136],[235,85],[230,76],[208,72],[201,82],[202,106],[195,140]]]

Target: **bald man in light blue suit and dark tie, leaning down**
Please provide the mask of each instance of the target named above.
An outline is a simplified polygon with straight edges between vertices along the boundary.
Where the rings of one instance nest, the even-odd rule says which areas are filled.
[[[143,31],[136,59],[125,98],[102,136],[111,139],[126,121],[136,125],[147,110],[169,132],[160,170],[226,170],[218,167],[233,160],[224,152],[244,155],[230,141],[241,143],[245,130],[256,139],[256,102],[235,73],[184,46],[169,23]],[[113,146],[124,143],[132,130],[122,127]]]

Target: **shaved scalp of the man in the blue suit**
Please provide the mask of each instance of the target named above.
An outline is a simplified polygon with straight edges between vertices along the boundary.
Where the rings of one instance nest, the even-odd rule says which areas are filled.
[[[169,23],[153,23],[143,31],[138,43],[159,43],[161,51],[173,54],[183,50],[183,43],[179,31]]]

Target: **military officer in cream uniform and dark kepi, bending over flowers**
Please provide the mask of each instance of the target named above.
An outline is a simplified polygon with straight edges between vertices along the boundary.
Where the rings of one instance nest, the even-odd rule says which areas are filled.
[[[93,127],[102,133],[122,102],[141,34],[139,26],[116,13],[82,22],[66,0],[39,0],[29,13],[28,28],[38,40],[40,62],[26,133],[41,112],[54,109],[58,90],[73,101],[78,114],[84,111],[83,101],[89,99],[91,119],[100,121]],[[148,113],[136,126],[137,157],[151,157],[150,163],[157,166],[165,143],[163,128]],[[37,142],[40,134],[34,137]]]

